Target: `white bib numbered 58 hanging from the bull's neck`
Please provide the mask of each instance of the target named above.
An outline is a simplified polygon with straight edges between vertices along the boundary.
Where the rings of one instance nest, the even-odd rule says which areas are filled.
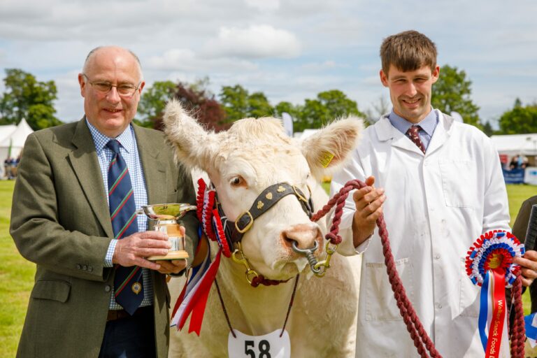
[[[290,358],[289,334],[281,329],[264,336],[248,336],[234,329],[237,338],[229,332],[227,354],[231,358]]]

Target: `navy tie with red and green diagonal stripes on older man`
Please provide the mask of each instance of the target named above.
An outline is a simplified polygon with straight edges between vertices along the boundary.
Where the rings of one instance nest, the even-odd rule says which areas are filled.
[[[106,146],[114,152],[108,166],[110,218],[115,238],[121,239],[138,231],[136,205],[129,169],[120,154],[120,143],[113,139]],[[114,295],[115,301],[133,315],[143,300],[142,270],[139,266],[115,266]]]

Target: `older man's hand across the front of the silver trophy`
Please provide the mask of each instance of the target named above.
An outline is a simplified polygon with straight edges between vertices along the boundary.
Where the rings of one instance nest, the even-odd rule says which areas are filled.
[[[159,231],[137,232],[117,241],[113,264],[121,266],[141,266],[151,270],[159,270],[161,265],[150,262],[145,257],[166,255],[171,244],[168,236]]]

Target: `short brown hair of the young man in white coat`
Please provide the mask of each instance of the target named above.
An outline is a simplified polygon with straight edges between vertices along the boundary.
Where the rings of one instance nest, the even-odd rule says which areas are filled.
[[[389,66],[400,71],[415,71],[422,66],[436,67],[436,45],[417,31],[403,31],[388,36],[380,45],[382,71],[388,76]]]

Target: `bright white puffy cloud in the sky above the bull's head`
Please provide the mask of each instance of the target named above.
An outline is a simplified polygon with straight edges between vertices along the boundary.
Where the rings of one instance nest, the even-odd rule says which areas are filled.
[[[292,58],[300,55],[300,50],[294,34],[270,25],[220,27],[217,38],[209,41],[205,49],[208,55],[246,59]]]

